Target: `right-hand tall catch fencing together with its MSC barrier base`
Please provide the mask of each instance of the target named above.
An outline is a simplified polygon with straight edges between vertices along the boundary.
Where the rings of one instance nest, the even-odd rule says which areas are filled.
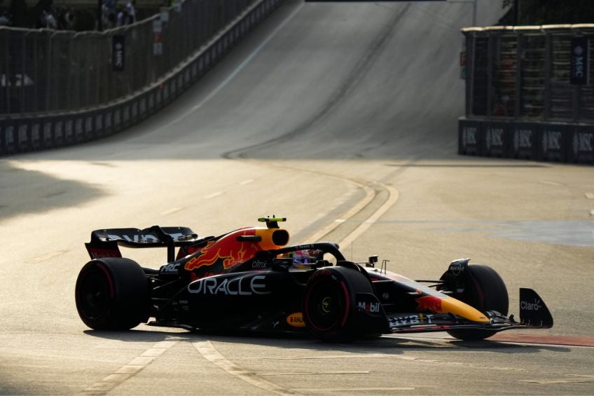
[[[460,153],[594,163],[594,25],[462,32]]]

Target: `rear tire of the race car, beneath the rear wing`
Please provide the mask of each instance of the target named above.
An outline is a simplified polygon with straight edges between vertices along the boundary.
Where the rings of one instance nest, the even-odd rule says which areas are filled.
[[[148,284],[135,261],[108,258],[89,261],[78,273],[76,309],[95,330],[127,330],[148,320]]]

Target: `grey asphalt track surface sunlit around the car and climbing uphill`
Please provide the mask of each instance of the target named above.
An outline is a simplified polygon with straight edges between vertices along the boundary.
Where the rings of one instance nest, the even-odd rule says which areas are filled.
[[[594,171],[457,156],[465,3],[287,1],[177,103],[100,142],[0,161],[0,394],[594,393]],[[479,1],[479,25],[500,13]],[[74,284],[96,228],[214,235],[286,216],[437,278],[471,257],[536,289],[546,331],[326,344],[141,325],[96,332]],[[164,252],[125,252],[146,266]]]

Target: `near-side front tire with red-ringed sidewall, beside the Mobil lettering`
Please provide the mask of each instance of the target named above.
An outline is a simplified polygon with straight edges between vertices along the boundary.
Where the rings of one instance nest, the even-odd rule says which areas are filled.
[[[365,275],[349,266],[322,268],[305,287],[303,319],[324,341],[352,341],[366,336],[357,321],[357,293],[373,293]]]

